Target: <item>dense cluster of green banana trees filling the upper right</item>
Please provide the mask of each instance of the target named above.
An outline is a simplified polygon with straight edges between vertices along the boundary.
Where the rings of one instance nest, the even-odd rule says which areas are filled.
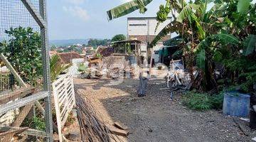
[[[213,7],[207,10],[210,2],[214,2]],[[120,11],[119,15],[124,13],[127,14],[127,11]],[[250,4],[250,0],[196,0],[189,3],[166,0],[156,14],[159,23],[166,21],[170,14],[174,21],[161,29],[149,47],[154,47],[169,33],[181,35],[183,43],[180,47],[191,78],[194,79],[193,66],[196,61],[201,77],[199,82],[193,82],[197,81],[198,86],[203,86],[205,90],[213,89],[216,85],[213,60],[235,57],[241,50],[239,47],[244,47],[244,55],[250,55],[255,50],[255,4]]]

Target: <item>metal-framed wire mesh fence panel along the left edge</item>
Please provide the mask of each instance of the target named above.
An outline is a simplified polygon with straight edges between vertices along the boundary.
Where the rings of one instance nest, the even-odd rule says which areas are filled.
[[[45,13],[43,0],[0,0],[0,141],[50,140],[47,37],[25,3]]]

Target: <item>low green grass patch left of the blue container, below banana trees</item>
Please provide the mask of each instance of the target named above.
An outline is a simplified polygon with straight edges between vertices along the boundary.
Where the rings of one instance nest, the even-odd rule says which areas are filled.
[[[210,109],[222,109],[223,98],[223,93],[210,96],[206,93],[201,94],[192,91],[186,93],[186,95],[183,96],[181,102],[184,106],[188,107],[189,109],[193,109],[196,111],[207,111]]]

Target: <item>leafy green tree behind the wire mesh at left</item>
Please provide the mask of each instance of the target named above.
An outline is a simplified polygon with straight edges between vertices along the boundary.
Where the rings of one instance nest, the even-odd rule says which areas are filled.
[[[42,77],[41,36],[32,28],[11,28],[6,33],[11,37],[0,45],[1,53],[11,62],[25,82],[35,83]]]

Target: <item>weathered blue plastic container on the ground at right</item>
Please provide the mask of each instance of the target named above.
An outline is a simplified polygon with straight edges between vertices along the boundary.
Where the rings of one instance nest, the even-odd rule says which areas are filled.
[[[250,114],[250,95],[239,92],[226,92],[223,101],[223,114],[247,117]]]

